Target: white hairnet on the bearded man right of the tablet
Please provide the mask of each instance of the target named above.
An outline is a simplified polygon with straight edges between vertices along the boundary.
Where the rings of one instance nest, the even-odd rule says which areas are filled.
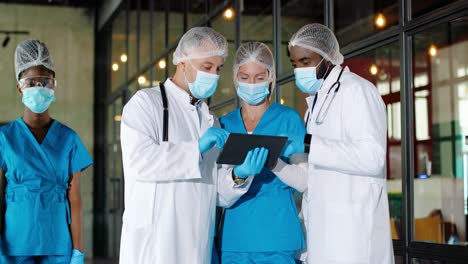
[[[343,63],[335,34],[322,24],[308,24],[299,29],[289,40],[289,51],[294,46],[312,50],[334,65]]]

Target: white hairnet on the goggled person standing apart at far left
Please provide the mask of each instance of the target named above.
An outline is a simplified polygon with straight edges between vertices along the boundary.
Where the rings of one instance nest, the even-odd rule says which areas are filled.
[[[34,66],[44,66],[55,73],[55,66],[46,45],[37,40],[24,40],[15,50],[15,74],[19,80],[20,74]]]

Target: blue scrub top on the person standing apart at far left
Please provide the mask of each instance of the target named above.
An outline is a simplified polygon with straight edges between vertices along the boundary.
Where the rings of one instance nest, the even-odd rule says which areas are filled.
[[[68,181],[92,164],[76,132],[55,120],[42,144],[22,118],[0,127],[7,178],[3,255],[71,255]]]

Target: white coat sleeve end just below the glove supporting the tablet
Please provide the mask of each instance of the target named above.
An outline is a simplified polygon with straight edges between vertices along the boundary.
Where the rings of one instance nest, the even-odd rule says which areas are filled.
[[[253,176],[247,177],[241,185],[236,185],[232,179],[233,166],[222,165],[218,170],[218,199],[217,206],[229,208],[250,188]]]

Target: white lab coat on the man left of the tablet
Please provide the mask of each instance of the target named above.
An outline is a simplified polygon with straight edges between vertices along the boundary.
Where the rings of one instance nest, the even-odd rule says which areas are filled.
[[[122,264],[210,263],[216,205],[234,204],[252,182],[236,186],[232,169],[216,165],[217,148],[200,155],[198,139],[219,123],[204,102],[192,105],[169,79],[165,87],[169,142],[159,87],[136,93],[122,115]]]

